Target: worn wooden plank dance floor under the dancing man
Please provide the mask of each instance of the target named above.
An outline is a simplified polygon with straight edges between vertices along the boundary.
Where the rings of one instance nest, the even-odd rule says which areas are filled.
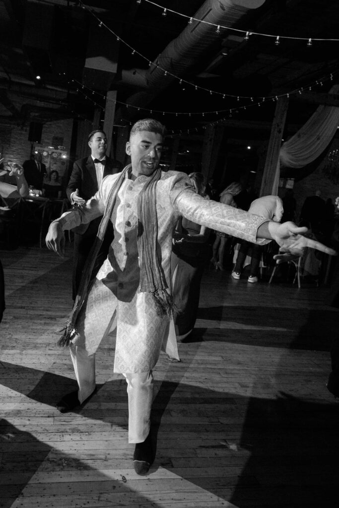
[[[305,508],[339,506],[339,404],[327,392],[338,311],[326,289],[235,281],[206,271],[196,330],[155,369],[157,458],[132,466],[125,381],[108,339],[99,392],[78,412],[55,342],[71,308],[71,252],[1,251],[2,508]]]

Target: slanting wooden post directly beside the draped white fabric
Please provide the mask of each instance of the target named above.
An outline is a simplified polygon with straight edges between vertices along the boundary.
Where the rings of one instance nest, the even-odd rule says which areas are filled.
[[[288,98],[281,97],[276,103],[271,135],[268,142],[264,174],[262,177],[260,196],[269,196],[274,192],[273,184],[276,177],[276,166],[279,161],[279,152],[283,138]]]

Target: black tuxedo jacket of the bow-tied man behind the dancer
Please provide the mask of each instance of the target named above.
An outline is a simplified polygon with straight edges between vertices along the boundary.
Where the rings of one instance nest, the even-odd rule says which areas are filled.
[[[114,162],[110,157],[106,156],[106,164],[104,166],[103,178],[107,175],[113,175],[117,173]],[[89,198],[94,196],[99,189],[96,167],[93,162],[91,155],[75,161],[73,165],[72,174],[67,185],[66,193],[69,201],[71,202],[71,194],[79,189],[79,196],[87,201]],[[77,233],[81,235],[97,234],[98,227],[100,224],[100,218],[93,221],[93,224],[88,226],[81,226],[77,229]]]

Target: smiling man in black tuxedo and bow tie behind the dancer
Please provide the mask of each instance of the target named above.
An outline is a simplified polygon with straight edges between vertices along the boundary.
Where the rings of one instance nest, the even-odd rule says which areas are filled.
[[[106,155],[107,137],[104,131],[97,129],[89,133],[88,146],[90,155],[75,161],[66,189],[67,197],[73,207],[82,206],[94,196],[105,176],[121,171],[121,164]],[[73,300],[77,295],[82,271],[91,246],[96,239],[100,221],[101,217],[98,217],[88,225],[80,226],[74,231]],[[112,235],[112,231],[106,233],[98,257],[98,269],[107,257]]]

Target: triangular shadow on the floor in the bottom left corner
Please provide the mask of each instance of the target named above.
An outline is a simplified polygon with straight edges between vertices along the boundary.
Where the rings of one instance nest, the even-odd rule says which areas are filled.
[[[120,505],[121,499],[128,506],[148,505],[147,494],[137,492],[129,478],[121,475],[120,480],[111,480],[103,472],[89,466],[86,460],[53,449],[7,420],[0,420],[0,446],[7,451],[6,454],[2,453],[0,467],[1,472],[6,473],[6,478],[2,475],[0,485],[0,508],[11,508],[15,501],[22,506],[34,505],[34,500],[40,506],[46,496],[53,499],[52,505],[65,507],[70,506],[70,502],[73,504],[74,499],[78,506],[94,506],[100,497],[107,499],[111,506]],[[109,462],[107,464],[109,468]],[[33,477],[38,470],[50,474],[50,481],[35,482]],[[81,471],[77,482],[72,483],[68,478],[69,471]],[[55,477],[58,477],[57,481]],[[84,482],[87,488],[84,488]]]

